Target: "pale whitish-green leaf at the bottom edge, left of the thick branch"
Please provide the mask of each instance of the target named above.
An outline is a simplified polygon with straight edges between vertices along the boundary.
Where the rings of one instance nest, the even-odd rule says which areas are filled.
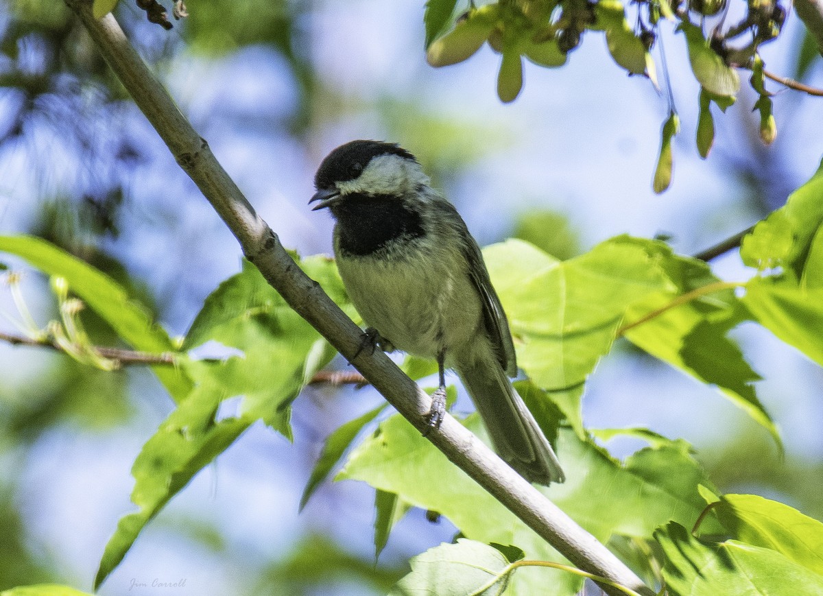
[[[456,544],[440,544],[421,555],[412,557],[412,572],[396,584],[390,596],[412,594],[503,594],[509,576],[478,593],[509,566],[503,553],[488,544],[458,538]]]

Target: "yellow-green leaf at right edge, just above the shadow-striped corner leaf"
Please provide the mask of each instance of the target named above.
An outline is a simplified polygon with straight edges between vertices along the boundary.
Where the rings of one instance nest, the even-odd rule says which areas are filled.
[[[724,495],[714,512],[737,540],[770,548],[823,575],[823,524],[756,495]]]

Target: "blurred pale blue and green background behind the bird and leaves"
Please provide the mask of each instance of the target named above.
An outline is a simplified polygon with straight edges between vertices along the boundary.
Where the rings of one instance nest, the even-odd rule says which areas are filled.
[[[332,221],[306,203],[323,156],[353,138],[416,154],[481,245],[518,235],[559,258],[623,233],[660,235],[694,254],[779,207],[823,156],[823,99],[768,83],[778,136],[764,147],[742,72],[737,104],[715,114],[714,149],[700,160],[698,85],[669,23],[661,41],[681,133],[672,187],[658,196],[651,180],[666,94],[627,77],[602,34],[586,34],[564,68],[527,63],[521,95],[502,105],[500,56],[488,46],[453,67],[425,63],[422,0],[192,0],[188,10],[168,32],[132,2],[115,14],[300,254],[331,253]],[[804,37],[789,11],[779,39],[762,49],[766,68],[823,86],[823,61]],[[235,239],[62,2],[0,0],[0,44],[0,233],[40,235],[95,264],[183,335],[206,296],[239,271]],[[0,262],[27,271],[19,289],[38,324],[56,318],[48,280],[7,255]],[[734,251],[712,265],[729,280],[752,273]],[[5,277],[0,314],[0,329],[14,332]],[[112,341],[91,316],[86,324]],[[764,377],[757,389],[784,458],[719,393],[627,343],[590,379],[584,420],[683,437],[721,490],[779,498],[823,519],[823,372],[754,325],[732,335]],[[185,580],[174,594],[384,593],[410,556],[453,538],[447,520],[412,510],[375,564],[370,487],[328,483],[297,511],[326,435],[380,400],[371,389],[306,389],[294,404],[293,444],[253,426],[148,526],[100,594],[156,594],[155,579]],[[133,460],[171,407],[147,370],[105,373],[0,344],[0,589],[56,581],[91,590],[105,542],[133,510]],[[458,401],[458,410],[470,407]],[[641,445],[608,447],[624,457]]]

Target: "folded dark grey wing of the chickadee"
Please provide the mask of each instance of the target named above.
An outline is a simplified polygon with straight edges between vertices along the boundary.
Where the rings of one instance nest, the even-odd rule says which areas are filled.
[[[497,297],[497,292],[495,292],[494,286],[491,285],[489,272],[486,269],[486,263],[483,262],[480,247],[472,238],[472,235],[469,234],[466,223],[453,205],[444,202],[443,207],[453,212],[455,217],[449,217],[449,219],[453,221],[454,225],[461,228],[461,236],[465,240],[463,251],[466,254],[468,274],[474,286],[477,287],[477,293],[481,296],[486,332],[495,347],[500,365],[503,366],[503,370],[506,371],[507,375],[513,377],[517,375],[517,361],[514,356],[514,343],[512,342],[512,334],[509,331],[509,321],[506,319],[503,305],[500,304],[500,298]]]

